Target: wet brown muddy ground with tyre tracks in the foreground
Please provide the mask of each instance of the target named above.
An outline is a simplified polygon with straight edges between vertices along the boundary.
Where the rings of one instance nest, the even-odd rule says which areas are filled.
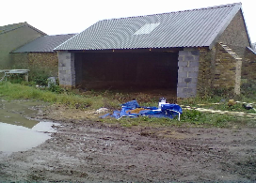
[[[123,128],[59,106],[30,117],[61,124],[44,144],[2,154],[0,181],[254,182],[256,129]]]

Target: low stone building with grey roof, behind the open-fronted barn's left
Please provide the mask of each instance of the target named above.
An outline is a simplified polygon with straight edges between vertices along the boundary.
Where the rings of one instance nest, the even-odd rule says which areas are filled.
[[[28,42],[24,46],[10,53],[16,67],[30,69],[47,76],[58,76],[56,46],[62,44],[75,34],[43,36]]]

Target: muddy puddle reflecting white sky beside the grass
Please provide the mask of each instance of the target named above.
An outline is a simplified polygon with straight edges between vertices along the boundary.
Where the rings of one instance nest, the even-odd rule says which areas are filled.
[[[35,114],[34,101],[0,100],[0,151],[5,153],[24,151],[42,144],[55,132],[53,122],[29,119]]]

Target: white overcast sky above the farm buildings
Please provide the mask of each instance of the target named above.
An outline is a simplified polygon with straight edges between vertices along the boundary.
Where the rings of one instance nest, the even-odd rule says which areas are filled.
[[[3,0],[0,26],[27,22],[48,35],[80,33],[101,20],[242,3],[256,42],[255,0]]]

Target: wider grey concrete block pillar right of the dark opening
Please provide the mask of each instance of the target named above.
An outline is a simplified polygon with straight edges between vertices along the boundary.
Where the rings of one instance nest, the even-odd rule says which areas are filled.
[[[177,98],[193,98],[197,95],[200,52],[197,49],[184,49],[178,58]]]

